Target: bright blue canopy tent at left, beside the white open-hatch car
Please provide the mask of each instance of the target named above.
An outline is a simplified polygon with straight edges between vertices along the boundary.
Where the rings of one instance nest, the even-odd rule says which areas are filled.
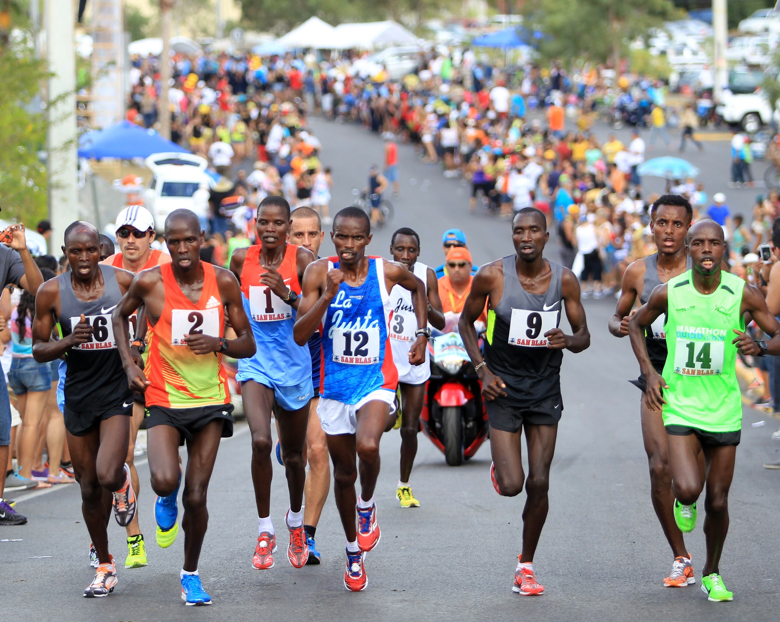
[[[105,130],[87,132],[79,139],[80,158],[130,160],[147,158],[154,153],[165,151],[190,153],[189,150],[161,137],[158,132],[146,130],[129,121],[120,121]]]

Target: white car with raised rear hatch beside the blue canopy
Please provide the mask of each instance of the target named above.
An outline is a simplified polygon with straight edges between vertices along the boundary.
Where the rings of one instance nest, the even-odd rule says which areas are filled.
[[[198,217],[207,218],[207,209],[193,201],[201,183],[213,187],[214,179],[206,172],[208,162],[200,155],[186,153],[156,153],[144,161],[152,175],[144,190],[144,204],[154,216],[158,231],[165,229],[165,219],[173,210],[191,209]]]

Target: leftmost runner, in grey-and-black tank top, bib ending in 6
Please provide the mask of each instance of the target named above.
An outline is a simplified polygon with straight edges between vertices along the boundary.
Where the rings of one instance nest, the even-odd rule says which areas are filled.
[[[125,464],[133,396],[117,352],[116,339],[122,336],[115,339],[110,315],[133,275],[99,265],[99,235],[89,222],[67,227],[62,252],[70,270],[41,286],[33,322],[35,360],[47,363],[65,355],[68,362],[62,414],[90,547],[97,557],[97,573],[84,590],[87,598],[108,595],[117,584],[114,557],[108,553],[111,493],[120,525],[126,527],[136,514]],[[51,339],[55,325],[57,340]]]

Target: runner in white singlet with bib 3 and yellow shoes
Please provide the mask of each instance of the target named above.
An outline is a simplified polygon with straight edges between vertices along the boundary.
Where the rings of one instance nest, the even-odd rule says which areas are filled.
[[[433,268],[429,268],[420,256],[420,236],[413,229],[402,227],[392,234],[390,253],[393,261],[409,268],[413,275],[425,283],[427,293],[428,322],[435,329],[443,330],[445,321],[438,296],[438,282]],[[395,497],[401,507],[420,507],[409,485],[410,474],[417,456],[417,432],[420,430],[420,412],[423,410],[425,386],[431,377],[431,364],[428,362],[428,350],[425,349],[425,362],[421,365],[409,363],[406,353],[414,340],[416,320],[411,293],[396,285],[390,292],[390,346],[395,368],[398,370],[399,389],[401,391],[401,478]]]

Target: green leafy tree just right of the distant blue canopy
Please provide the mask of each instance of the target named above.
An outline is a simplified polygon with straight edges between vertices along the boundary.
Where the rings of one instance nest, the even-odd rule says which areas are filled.
[[[548,58],[617,62],[630,41],[675,15],[671,0],[539,0],[527,23],[547,35],[540,45]]]

